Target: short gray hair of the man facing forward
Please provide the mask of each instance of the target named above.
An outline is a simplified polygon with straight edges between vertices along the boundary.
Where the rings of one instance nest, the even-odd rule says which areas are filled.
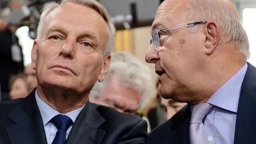
[[[107,26],[108,26],[108,40],[107,40],[107,43],[105,44],[104,55],[110,54],[113,51],[113,47],[114,47],[116,28],[114,27],[114,24],[111,21],[110,15],[106,11],[106,9],[103,7],[103,5],[101,5],[99,2],[95,0],[63,0],[60,4],[57,4],[56,2],[49,2],[49,4],[47,4],[43,8],[43,11],[41,14],[39,26],[37,28],[37,39],[40,39],[41,37],[43,21],[47,17],[47,15],[49,15],[49,13],[53,11],[53,9],[55,9],[57,6],[64,4],[66,2],[73,2],[75,4],[85,5],[97,11],[98,14],[100,14],[101,17],[104,18],[105,23],[107,23]]]

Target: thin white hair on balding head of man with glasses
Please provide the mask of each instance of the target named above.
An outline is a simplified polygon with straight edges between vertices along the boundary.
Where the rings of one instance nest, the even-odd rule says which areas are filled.
[[[242,27],[236,9],[229,0],[165,0],[158,8],[156,16],[169,13],[170,21],[215,21],[220,27],[224,43],[233,43],[245,57],[249,57],[249,42],[247,34]],[[173,15],[179,15],[173,19]],[[165,17],[166,18],[166,17]],[[159,18],[161,21],[161,18]],[[195,31],[197,27],[193,27]]]

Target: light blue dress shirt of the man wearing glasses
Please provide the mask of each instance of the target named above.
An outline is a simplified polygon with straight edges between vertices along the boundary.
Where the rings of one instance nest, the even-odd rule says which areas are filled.
[[[207,101],[213,105],[203,121],[210,144],[234,142],[238,101],[246,71],[247,63]]]

